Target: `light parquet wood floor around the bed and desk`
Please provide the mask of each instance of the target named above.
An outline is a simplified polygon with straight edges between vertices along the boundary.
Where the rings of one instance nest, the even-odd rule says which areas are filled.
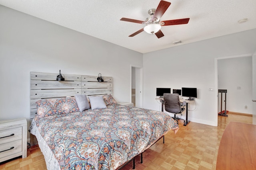
[[[218,116],[218,127],[190,122],[175,135],[172,131],[143,153],[136,156],[136,170],[215,170],[218,147],[222,134],[230,121],[252,124],[252,115],[229,112]],[[16,158],[0,163],[0,170],[46,170],[44,156],[38,145],[28,149],[27,158]],[[122,170],[132,170],[132,162]]]

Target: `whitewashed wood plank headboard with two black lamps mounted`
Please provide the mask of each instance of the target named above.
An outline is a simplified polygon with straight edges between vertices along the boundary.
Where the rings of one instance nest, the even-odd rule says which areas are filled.
[[[62,74],[64,81],[56,81],[58,73],[30,72],[30,122],[37,114],[35,102],[47,98],[63,98],[86,94],[87,96],[112,94],[113,78],[104,76],[104,82],[98,82],[98,76]],[[37,143],[30,135],[31,145]]]

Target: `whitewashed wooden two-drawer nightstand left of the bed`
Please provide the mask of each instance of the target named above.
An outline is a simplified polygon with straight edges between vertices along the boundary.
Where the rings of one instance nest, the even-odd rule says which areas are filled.
[[[27,157],[27,120],[0,121],[0,162],[21,155]]]

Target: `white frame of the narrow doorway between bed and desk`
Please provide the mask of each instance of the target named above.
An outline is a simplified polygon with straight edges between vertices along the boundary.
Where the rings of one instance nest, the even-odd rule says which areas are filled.
[[[139,75],[136,75],[136,76],[140,76],[140,107],[143,108],[143,68],[142,66],[138,66],[138,65],[133,65],[131,64],[131,68],[130,68],[130,102],[132,102],[132,67],[134,68],[139,68],[140,72],[139,72]],[[137,94],[136,94],[137,95]],[[134,104],[134,106],[136,106],[136,104]]]

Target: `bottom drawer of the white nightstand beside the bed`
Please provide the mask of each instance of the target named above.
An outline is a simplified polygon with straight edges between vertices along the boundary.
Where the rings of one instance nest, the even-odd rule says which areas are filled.
[[[12,148],[14,147],[14,148]],[[0,158],[19,153],[22,155],[22,139],[0,145]]]

